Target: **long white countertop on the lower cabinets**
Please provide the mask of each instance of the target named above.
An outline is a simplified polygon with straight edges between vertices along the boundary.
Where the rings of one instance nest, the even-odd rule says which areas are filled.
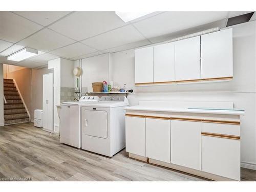
[[[225,110],[225,109],[187,109],[187,108],[157,108],[153,106],[135,105],[124,108],[125,110],[135,111],[158,111],[158,112],[179,112],[179,113],[204,113],[204,114],[222,114],[222,115],[244,115],[243,110]]]

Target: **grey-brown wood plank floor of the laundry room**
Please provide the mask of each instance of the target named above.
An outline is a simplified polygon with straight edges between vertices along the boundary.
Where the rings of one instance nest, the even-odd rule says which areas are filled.
[[[176,170],[127,157],[113,158],[60,144],[57,135],[32,123],[0,127],[0,179],[32,181],[205,181]],[[256,171],[241,169],[243,181],[256,181]]]

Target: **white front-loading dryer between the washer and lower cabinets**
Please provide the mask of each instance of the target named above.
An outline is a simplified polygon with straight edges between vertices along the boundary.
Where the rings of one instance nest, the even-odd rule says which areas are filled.
[[[112,157],[125,147],[124,96],[102,96],[81,105],[82,149]]]

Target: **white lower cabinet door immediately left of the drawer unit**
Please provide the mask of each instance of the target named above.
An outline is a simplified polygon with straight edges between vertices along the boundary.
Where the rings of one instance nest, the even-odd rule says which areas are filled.
[[[170,121],[171,162],[201,169],[201,122]]]

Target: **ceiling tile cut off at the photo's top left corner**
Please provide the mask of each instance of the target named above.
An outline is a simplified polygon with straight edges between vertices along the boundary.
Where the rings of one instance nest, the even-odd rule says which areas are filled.
[[[0,11],[0,39],[17,42],[41,29],[26,18],[9,11]]]

